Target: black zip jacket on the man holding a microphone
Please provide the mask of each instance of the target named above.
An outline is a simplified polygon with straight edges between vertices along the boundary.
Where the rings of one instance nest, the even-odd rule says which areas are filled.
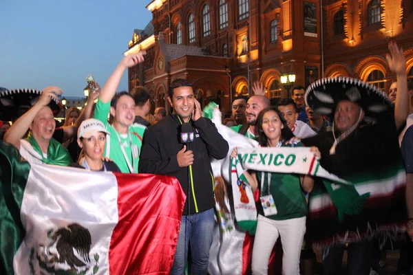
[[[210,157],[223,159],[228,153],[229,146],[211,120],[191,120],[195,133],[194,140],[189,145],[189,150],[193,151],[193,181],[188,184],[189,167],[180,167],[176,158],[183,146],[180,143],[180,121],[182,119],[178,118],[178,115],[169,113],[166,118],[146,129],[140,151],[139,173],[176,177],[187,195],[182,214],[188,214],[188,201],[191,203],[189,214],[195,214],[214,206],[214,181]]]

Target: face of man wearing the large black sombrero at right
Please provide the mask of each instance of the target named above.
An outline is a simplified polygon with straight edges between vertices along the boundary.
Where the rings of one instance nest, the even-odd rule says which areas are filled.
[[[337,104],[334,114],[334,122],[340,133],[344,133],[350,129],[359,120],[361,107],[354,102],[342,100]],[[363,120],[364,112],[361,111],[361,118]]]

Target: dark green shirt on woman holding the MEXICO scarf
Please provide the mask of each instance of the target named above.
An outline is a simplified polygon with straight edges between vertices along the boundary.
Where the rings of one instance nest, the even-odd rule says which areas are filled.
[[[301,142],[295,147],[304,146]],[[282,147],[291,147],[291,144],[282,144]],[[304,191],[301,188],[299,175],[284,173],[269,173],[257,171],[258,185],[261,188],[261,196],[273,195],[277,214],[267,216],[269,219],[286,220],[305,217],[308,208]],[[268,181],[270,188],[268,192]],[[264,216],[262,206],[260,214]]]

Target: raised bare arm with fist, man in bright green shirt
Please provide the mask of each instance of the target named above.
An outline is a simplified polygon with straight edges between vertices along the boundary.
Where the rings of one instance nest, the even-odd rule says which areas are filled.
[[[122,78],[125,69],[134,67],[138,63],[142,63],[144,61],[143,56],[145,56],[145,54],[145,51],[140,51],[137,54],[129,54],[125,56],[122,61],[120,61],[115,71],[109,77],[109,79],[105,83],[105,86],[103,86],[103,89],[100,92],[100,100],[103,103],[110,102],[116,94],[116,89],[118,89],[120,79]]]

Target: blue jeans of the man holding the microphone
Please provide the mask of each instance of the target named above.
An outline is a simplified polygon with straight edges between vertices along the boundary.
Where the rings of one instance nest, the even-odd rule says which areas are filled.
[[[185,274],[190,242],[192,274],[206,275],[208,273],[209,249],[212,245],[214,223],[213,208],[198,214],[182,216],[171,275]]]

